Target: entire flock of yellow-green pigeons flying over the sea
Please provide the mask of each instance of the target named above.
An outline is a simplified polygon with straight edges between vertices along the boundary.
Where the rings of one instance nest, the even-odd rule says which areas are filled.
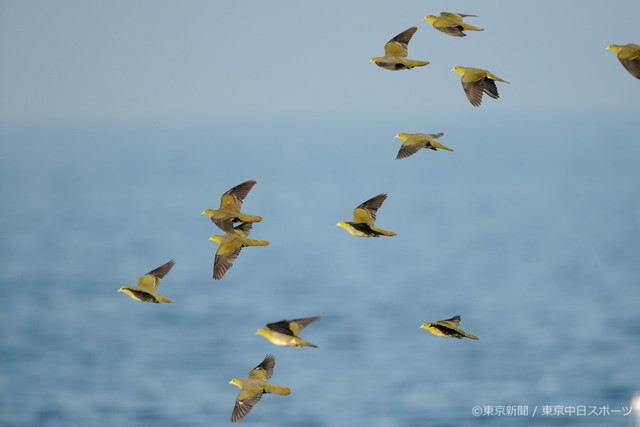
[[[424,17],[424,20],[447,35],[464,37],[466,36],[464,31],[483,31],[483,28],[474,27],[464,22],[463,18],[471,16],[475,15],[442,12],[439,16],[427,15]],[[417,27],[411,27],[389,40],[384,46],[384,56],[371,58],[370,62],[381,68],[393,71],[422,67],[429,64],[428,61],[418,61],[407,58],[408,44],[416,31]],[[640,79],[640,45],[609,45],[607,49],[615,52],[627,71],[634,77]],[[499,98],[498,89],[495,84],[496,81],[509,83],[490,71],[480,68],[456,66],[452,71],[462,76],[462,88],[469,102],[471,102],[474,107],[480,106],[482,96],[485,93],[491,98]],[[453,151],[451,148],[436,141],[437,138],[443,135],[443,133],[397,134],[396,138],[401,139],[403,143],[396,159],[411,156],[421,148]],[[254,240],[248,237],[253,223],[262,221],[262,217],[247,215],[241,212],[242,203],[255,184],[255,180],[249,180],[236,185],[221,196],[218,209],[206,209],[202,212],[203,215],[208,216],[211,221],[224,232],[224,234],[212,235],[210,237],[210,240],[219,245],[213,262],[213,278],[216,280],[222,279],[232,267],[234,261],[240,255],[242,248],[246,246],[267,246],[269,244],[268,241]],[[387,195],[382,193],[361,203],[354,209],[352,221],[340,221],[337,226],[344,228],[350,234],[358,237],[395,236],[396,233],[375,226],[376,214],[386,198]],[[239,225],[235,225],[236,223],[239,223]],[[158,294],[157,288],[161,280],[169,273],[174,265],[175,261],[171,260],[140,277],[136,286],[122,286],[118,291],[142,302],[173,303],[169,298]],[[266,328],[258,329],[256,334],[264,336],[271,343],[278,346],[291,346],[296,348],[305,346],[317,347],[317,345],[300,338],[299,334],[306,326],[318,319],[320,319],[319,316],[314,316],[272,322],[267,324]],[[460,316],[453,316],[446,320],[423,323],[420,327],[440,337],[479,339],[460,329],[459,325]],[[273,355],[267,355],[258,366],[249,372],[246,379],[234,378],[230,381],[230,384],[241,389],[236,398],[231,415],[232,422],[245,417],[265,393],[279,395],[288,395],[291,393],[288,387],[269,383],[269,379],[273,375],[274,366],[275,357]]]

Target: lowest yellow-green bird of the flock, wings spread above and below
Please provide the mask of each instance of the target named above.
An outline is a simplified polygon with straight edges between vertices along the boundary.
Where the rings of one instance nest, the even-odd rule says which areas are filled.
[[[229,384],[241,388],[236,398],[236,404],[233,407],[233,413],[231,414],[232,422],[244,418],[265,393],[280,394],[283,396],[291,394],[291,390],[288,387],[269,384],[268,381],[271,375],[273,375],[273,367],[275,365],[276,358],[268,354],[262,363],[249,372],[247,379],[234,378],[229,381]]]

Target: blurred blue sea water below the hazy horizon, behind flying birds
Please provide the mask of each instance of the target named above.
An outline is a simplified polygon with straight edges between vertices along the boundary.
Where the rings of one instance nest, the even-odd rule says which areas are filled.
[[[636,118],[481,120],[4,127],[0,425],[226,425],[229,380],[266,354],[292,394],[265,395],[246,425],[627,425]],[[400,131],[445,132],[455,151],[396,161]],[[252,237],[271,245],[214,281],[200,212],[247,179]],[[377,224],[397,236],[335,227],[382,192]],[[116,292],[170,259],[175,304]],[[479,341],[419,329],[456,314]],[[254,334],[314,315],[301,335],[317,349]]]

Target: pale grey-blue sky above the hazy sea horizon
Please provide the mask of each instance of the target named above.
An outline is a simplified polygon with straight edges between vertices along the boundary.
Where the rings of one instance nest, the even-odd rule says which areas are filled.
[[[483,32],[423,22],[448,10]],[[640,81],[606,51],[640,43],[640,2],[0,2],[0,124],[472,111],[455,65],[511,82],[481,109],[629,113]],[[368,63],[413,25],[409,57]]]

